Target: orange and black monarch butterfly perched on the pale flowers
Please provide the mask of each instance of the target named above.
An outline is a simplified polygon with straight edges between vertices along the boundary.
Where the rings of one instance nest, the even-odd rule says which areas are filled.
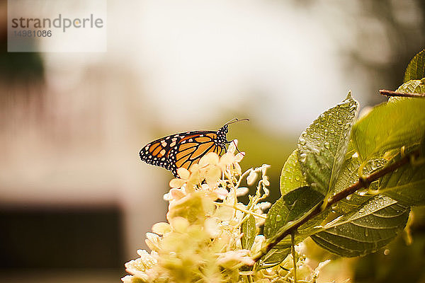
[[[164,167],[174,177],[178,177],[178,168],[190,168],[208,152],[218,155],[223,150],[226,152],[225,145],[232,142],[227,141],[226,137],[228,125],[244,120],[248,121],[234,118],[217,131],[182,132],[162,137],[144,146],[139,152],[140,159],[148,164]]]

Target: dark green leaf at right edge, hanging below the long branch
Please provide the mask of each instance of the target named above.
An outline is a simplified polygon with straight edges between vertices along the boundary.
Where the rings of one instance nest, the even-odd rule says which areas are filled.
[[[389,164],[401,158],[397,154]],[[397,170],[384,175],[379,182],[379,189],[384,195],[407,205],[425,204],[425,160],[420,164],[409,163],[397,168]]]

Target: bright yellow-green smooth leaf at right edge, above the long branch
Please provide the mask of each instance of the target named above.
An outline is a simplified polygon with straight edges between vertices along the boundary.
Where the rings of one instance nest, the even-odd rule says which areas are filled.
[[[419,142],[425,127],[425,99],[382,103],[353,126],[353,145],[361,161]]]

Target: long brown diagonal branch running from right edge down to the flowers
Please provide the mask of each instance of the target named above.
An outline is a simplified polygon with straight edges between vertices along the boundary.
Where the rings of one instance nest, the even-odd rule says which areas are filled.
[[[295,233],[295,231],[300,227],[302,224],[305,224],[308,220],[312,219],[314,216],[319,214],[320,212],[323,212],[325,209],[331,207],[332,204],[335,204],[336,202],[339,202],[340,200],[343,200],[348,195],[353,194],[356,192],[356,190],[360,190],[362,188],[367,188],[370,183],[372,183],[375,180],[378,180],[378,178],[381,178],[383,175],[386,175],[387,173],[391,173],[392,171],[395,171],[397,168],[402,167],[410,162],[411,158],[418,157],[420,151],[412,151],[410,154],[407,154],[406,156],[400,158],[398,161],[395,161],[395,163],[390,164],[389,166],[385,166],[384,168],[375,171],[374,173],[371,173],[370,175],[361,178],[358,180],[357,183],[354,183],[353,185],[346,187],[344,190],[341,190],[341,192],[338,192],[334,196],[330,197],[327,204],[323,206],[324,201],[319,202],[316,204],[312,209],[310,209],[306,214],[302,215],[299,219],[295,221],[290,221],[288,224],[283,226],[276,236],[273,236],[270,238],[268,243],[266,243],[266,246],[263,246],[261,250],[259,250],[256,255],[254,255],[253,260],[258,261],[260,260],[266,253],[268,253],[274,246],[276,246],[280,241],[283,240],[286,236],[290,235],[291,233]]]

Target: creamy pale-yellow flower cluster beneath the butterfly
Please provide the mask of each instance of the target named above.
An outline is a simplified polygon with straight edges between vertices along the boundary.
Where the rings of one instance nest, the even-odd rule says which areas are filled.
[[[232,141],[226,154],[209,153],[189,170],[178,169],[180,178],[170,181],[171,190],[164,195],[169,201],[168,223],[152,226],[145,240],[152,251],[137,250],[140,258],[125,264],[130,275],[123,277],[123,282],[266,283],[289,276],[290,269],[283,265],[267,270],[252,268],[255,262],[251,256],[265,242],[259,226],[266,219],[264,210],[271,206],[263,202],[268,196],[268,166],[242,173],[239,162],[244,153],[234,154],[236,146],[237,141]],[[237,200],[249,192],[248,187],[240,187],[242,180],[248,185],[258,180],[249,204]],[[255,219],[256,236],[251,247],[244,248],[242,226],[250,217]]]

